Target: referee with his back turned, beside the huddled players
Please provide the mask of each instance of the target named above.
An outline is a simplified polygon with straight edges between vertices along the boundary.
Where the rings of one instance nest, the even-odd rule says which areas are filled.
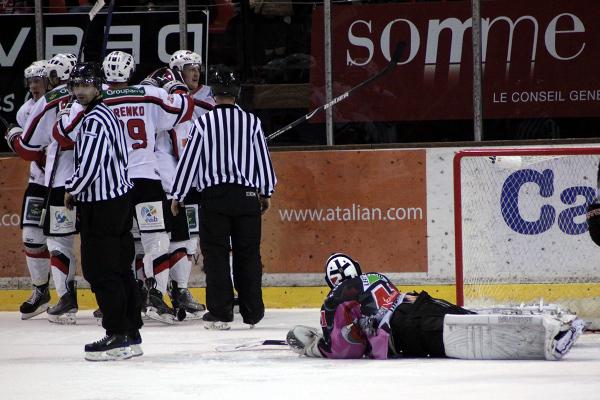
[[[233,286],[240,314],[254,325],[264,316],[260,261],[261,212],[270,205],[277,179],[260,119],[235,104],[240,91],[233,71],[215,67],[209,77],[215,108],[190,129],[177,164],[171,211],[177,214],[192,184],[200,191],[200,248],[206,273],[204,326],[229,329]]]

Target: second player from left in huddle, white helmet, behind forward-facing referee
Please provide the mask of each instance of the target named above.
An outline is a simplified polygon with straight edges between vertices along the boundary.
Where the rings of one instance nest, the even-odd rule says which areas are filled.
[[[75,288],[76,259],[73,250],[76,226],[76,211],[67,210],[63,204],[65,179],[73,173],[73,149],[61,148],[51,132],[56,116],[69,99],[66,83],[76,57],[72,54],[57,54],[46,64],[48,82],[53,89],[41,97],[32,107],[23,133],[7,138],[11,148],[23,159],[44,163],[44,187],[51,184],[49,196],[50,210],[44,213],[41,223],[47,237],[50,252],[52,278],[59,301],[48,309],[48,320],[62,324],[74,324],[78,310]],[[54,159],[58,154],[58,159]],[[54,164],[57,164],[54,166]],[[55,174],[51,182],[52,171]],[[45,201],[45,200],[44,200]]]

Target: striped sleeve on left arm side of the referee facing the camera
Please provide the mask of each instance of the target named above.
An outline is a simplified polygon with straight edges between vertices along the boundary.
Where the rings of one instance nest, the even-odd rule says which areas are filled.
[[[75,172],[65,182],[67,192],[76,196],[85,191],[100,174],[100,168],[109,157],[109,145],[103,124],[87,120],[81,127],[80,143],[76,152]]]

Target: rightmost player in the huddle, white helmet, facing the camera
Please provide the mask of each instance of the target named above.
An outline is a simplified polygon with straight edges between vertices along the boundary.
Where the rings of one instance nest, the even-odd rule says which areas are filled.
[[[202,57],[189,50],[177,50],[171,56],[169,67],[181,73],[183,81],[194,99],[194,118],[212,110],[214,100],[210,86],[200,84]],[[167,198],[171,198],[171,189],[175,168],[188,139],[188,131],[193,126],[191,121],[182,123],[169,131],[159,132],[156,138],[156,156],[161,168],[163,189]],[[185,213],[179,213],[172,221],[169,259],[171,261],[169,297],[177,310],[179,320],[199,319],[206,310],[204,304],[196,301],[188,289],[192,271],[192,257],[198,248],[198,199],[192,198],[192,191],[185,200]],[[191,229],[191,230],[190,230]]]

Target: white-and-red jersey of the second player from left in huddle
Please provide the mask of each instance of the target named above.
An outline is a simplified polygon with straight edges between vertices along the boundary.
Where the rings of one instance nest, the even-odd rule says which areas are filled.
[[[66,85],[60,85],[46,93],[34,105],[27,118],[23,134],[13,142],[13,147],[21,158],[29,161],[45,160],[44,186],[50,185],[54,162],[58,162],[52,187],[65,185],[65,180],[73,175],[73,148],[61,148],[58,160],[55,160],[57,147],[52,138],[52,129],[57,112],[69,101],[70,94]]]

